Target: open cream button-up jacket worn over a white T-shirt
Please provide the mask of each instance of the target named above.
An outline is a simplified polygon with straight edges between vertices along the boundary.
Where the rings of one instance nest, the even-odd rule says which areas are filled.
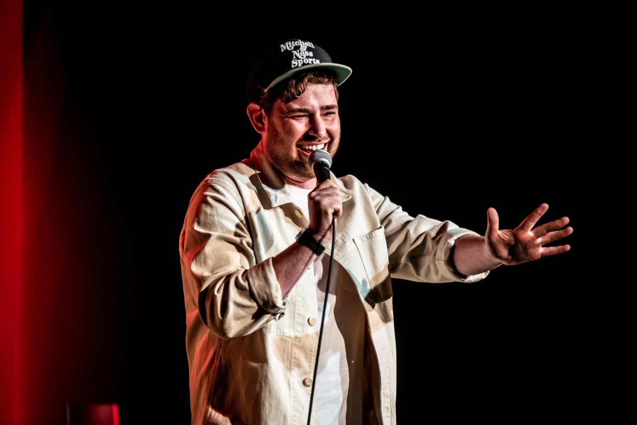
[[[396,423],[396,343],[391,277],[473,282],[450,254],[463,234],[452,222],[411,217],[354,176],[341,189],[334,253],[366,314],[365,423]],[[282,298],[272,257],[295,243],[308,220],[263,155],[208,175],[180,235],[186,349],[193,424],[307,422],[316,359],[317,295],[306,273]],[[336,307],[338,308],[338,307]],[[359,311],[362,311],[359,309]],[[314,417],[314,415],[312,415]]]

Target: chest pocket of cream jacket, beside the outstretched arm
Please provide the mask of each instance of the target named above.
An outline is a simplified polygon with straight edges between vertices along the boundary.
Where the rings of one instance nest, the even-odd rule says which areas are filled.
[[[392,296],[391,278],[389,275],[389,255],[387,254],[387,241],[385,240],[385,227],[357,236],[354,243],[365,273],[367,284],[359,287],[363,298],[369,301],[385,301]],[[369,293],[366,293],[369,292]]]

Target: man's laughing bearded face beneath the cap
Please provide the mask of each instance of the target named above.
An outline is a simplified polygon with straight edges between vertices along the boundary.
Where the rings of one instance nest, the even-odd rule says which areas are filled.
[[[308,157],[319,148],[334,156],[341,136],[341,121],[334,87],[309,83],[290,103],[276,101],[263,134],[268,161],[289,184],[315,178]]]

